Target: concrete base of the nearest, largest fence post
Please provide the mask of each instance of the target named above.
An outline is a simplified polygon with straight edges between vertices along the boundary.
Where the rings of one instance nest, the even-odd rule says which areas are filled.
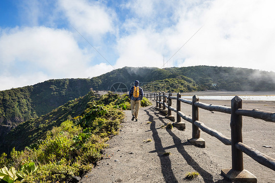
[[[230,181],[257,183],[257,178],[248,170],[234,171],[232,169],[222,169],[221,172],[222,175]]]

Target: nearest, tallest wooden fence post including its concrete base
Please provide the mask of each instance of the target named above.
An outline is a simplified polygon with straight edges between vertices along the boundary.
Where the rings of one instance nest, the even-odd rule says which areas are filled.
[[[243,142],[242,115],[236,114],[237,109],[242,108],[242,99],[235,96],[231,100],[231,156],[232,156],[232,169],[223,169],[222,174],[232,181],[242,181],[249,183],[256,183],[257,178],[247,170],[244,170],[243,152],[238,150],[235,146],[238,142]]]

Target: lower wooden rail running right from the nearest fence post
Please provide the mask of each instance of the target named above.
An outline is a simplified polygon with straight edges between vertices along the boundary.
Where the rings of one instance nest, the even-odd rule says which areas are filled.
[[[258,150],[247,146],[246,144],[242,142],[238,142],[235,144],[236,148],[240,151],[244,152],[248,156],[250,156],[253,160],[257,161],[258,163],[269,167],[270,169],[275,171],[275,159],[271,158]]]

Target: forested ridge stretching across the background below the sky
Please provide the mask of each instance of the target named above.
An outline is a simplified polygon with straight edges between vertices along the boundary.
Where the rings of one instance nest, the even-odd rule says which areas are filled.
[[[0,125],[12,127],[47,114],[69,100],[84,96],[91,88],[110,90],[119,82],[125,84],[126,92],[135,80],[139,80],[141,87],[148,92],[275,91],[274,72],[210,66],[124,67],[91,79],[51,79],[33,86],[0,91]],[[0,137],[5,130],[0,129]]]

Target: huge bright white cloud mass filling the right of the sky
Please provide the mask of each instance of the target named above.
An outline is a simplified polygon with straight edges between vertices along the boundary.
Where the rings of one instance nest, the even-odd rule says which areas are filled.
[[[172,58],[179,67],[199,64],[275,71],[274,1],[170,2],[159,3],[163,5],[164,14],[168,12],[167,8],[170,9],[166,18],[174,21],[172,25],[164,26],[155,17],[157,2],[128,2],[126,7],[141,20],[134,17],[125,21],[124,27],[130,33],[118,41],[118,64],[138,66],[137,60],[147,58],[147,62],[141,61],[139,66],[156,66],[155,63],[161,63],[162,54],[167,61],[204,25]],[[148,7],[142,8],[145,5]],[[146,14],[147,11],[151,12]]]

